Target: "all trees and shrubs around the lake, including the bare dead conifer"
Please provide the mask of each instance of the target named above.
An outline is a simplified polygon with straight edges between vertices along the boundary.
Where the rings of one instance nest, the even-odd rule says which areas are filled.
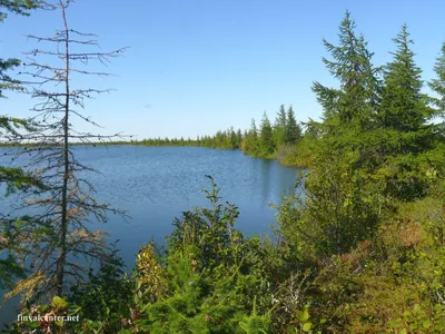
[[[40,117],[0,117],[3,144],[28,144],[22,150],[34,157],[23,168],[0,166],[2,196],[30,194],[37,199],[28,205],[43,208],[38,216],[0,213],[0,286],[6,297],[20,296],[21,315],[31,320],[10,323],[3,333],[445,332],[445,42],[437,46],[435,78],[424,82],[407,26],[394,33],[392,60],[377,67],[346,12],[338,40],[324,40],[320,55],[338,85],[312,87],[322,120],[303,124],[296,105],[280,106],[274,120],[264,112],[246,130],[131,143],[79,134],[70,124],[73,117],[92,121],[73,106],[102,92],[72,90],[73,63],[125,49],[73,53],[75,40],[85,47],[95,41],[69,28],[69,1],[55,8],[0,0],[0,19],[42,7],[60,11],[65,28],[39,37],[62,48],[34,51],[27,63],[39,85],[8,76],[21,60],[0,59],[1,95],[30,90],[46,101],[36,106]],[[39,52],[65,66],[49,68]],[[119,250],[88,224],[106,222],[109,212],[125,214],[97,203],[79,174],[88,166],[72,151],[79,140],[103,139],[278,159],[306,168],[296,180],[303,195],[276,205],[273,237],[247,237],[236,224],[243,213],[220,198],[218,176],[208,176],[208,206],[171,217],[166,246],[147,240],[127,274]],[[99,263],[99,271],[82,267],[78,257]]]

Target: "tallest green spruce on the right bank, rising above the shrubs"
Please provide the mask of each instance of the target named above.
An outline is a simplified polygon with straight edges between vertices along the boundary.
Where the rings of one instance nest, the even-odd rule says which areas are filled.
[[[329,156],[333,150],[344,156],[344,168],[373,169],[378,165],[375,138],[369,134],[377,128],[376,118],[382,104],[382,68],[374,67],[373,56],[363,35],[356,33],[355,21],[346,11],[339,24],[339,42],[334,46],[324,40],[332,60],[323,58],[328,71],[339,81],[338,88],[315,82],[313,90],[320,102],[324,122],[315,124],[320,141],[318,156]]]

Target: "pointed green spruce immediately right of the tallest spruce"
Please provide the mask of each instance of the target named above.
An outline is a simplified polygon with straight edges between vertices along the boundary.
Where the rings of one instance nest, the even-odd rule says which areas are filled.
[[[431,98],[422,92],[422,70],[414,60],[407,26],[393,39],[396,51],[385,68],[385,88],[378,114],[380,155],[386,194],[404,200],[424,196],[431,168],[437,169],[443,159],[435,153],[441,129],[428,124],[437,110]],[[429,171],[428,171],[429,170]]]

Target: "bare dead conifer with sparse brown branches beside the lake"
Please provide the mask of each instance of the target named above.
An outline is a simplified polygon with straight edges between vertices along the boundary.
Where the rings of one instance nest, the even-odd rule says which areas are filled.
[[[91,224],[106,223],[107,214],[122,214],[99,204],[95,199],[95,188],[88,181],[86,173],[93,171],[75,155],[72,145],[111,140],[121,137],[82,132],[72,126],[72,120],[96,125],[81,112],[85,99],[107,92],[93,88],[73,88],[73,76],[109,76],[107,72],[89,71],[90,62],[108,63],[120,56],[126,48],[111,52],[83,52],[87,47],[98,47],[96,36],[82,33],[69,27],[67,9],[72,0],[59,0],[63,28],[53,37],[28,36],[42,49],[27,52],[24,70],[21,75],[29,80],[27,91],[39,102],[33,107],[37,116],[32,118],[39,125],[39,131],[24,135],[30,146],[26,153],[31,156],[27,170],[44,184],[44,189],[36,190],[32,198],[27,197],[27,209],[37,207],[37,215],[22,224],[16,234],[21,242],[21,259],[32,268],[28,278],[20,281],[8,294],[24,293],[24,298],[47,299],[53,295],[63,296],[73,283],[86,278],[91,263],[107,259],[105,234],[93,232]],[[47,47],[47,46],[50,47]],[[76,52],[73,51],[76,48]],[[43,58],[44,62],[39,61]],[[50,60],[52,59],[52,60]],[[123,215],[123,214],[122,214]],[[19,228],[11,226],[11,228]],[[37,232],[37,233],[36,233]],[[79,262],[82,257],[82,262]]]

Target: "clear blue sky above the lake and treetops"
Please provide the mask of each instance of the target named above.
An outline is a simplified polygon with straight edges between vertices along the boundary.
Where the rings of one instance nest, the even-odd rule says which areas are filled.
[[[318,119],[312,84],[336,84],[322,61],[328,56],[322,40],[337,43],[345,10],[376,65],[390,60],[392,38],[407,23],[423,79],[433,77],[445,40],[442,0],[77,0],[68,12],[73,29],[98,33],[102,50],[130,47],[103,69],[116,76],[76,81],[116,89],[87,101],[83,112],[105,127],[100,132],[139,139],[245,129],[265,110],[273,120],[281,104],[293,105],[298,120]],[[24,35],[50,36],[57,28],[59,13],[10,14],[0,24],[0,57],[22,58],[36,48]],[[36,101],[8,95],[1,114],[31,115]]]

